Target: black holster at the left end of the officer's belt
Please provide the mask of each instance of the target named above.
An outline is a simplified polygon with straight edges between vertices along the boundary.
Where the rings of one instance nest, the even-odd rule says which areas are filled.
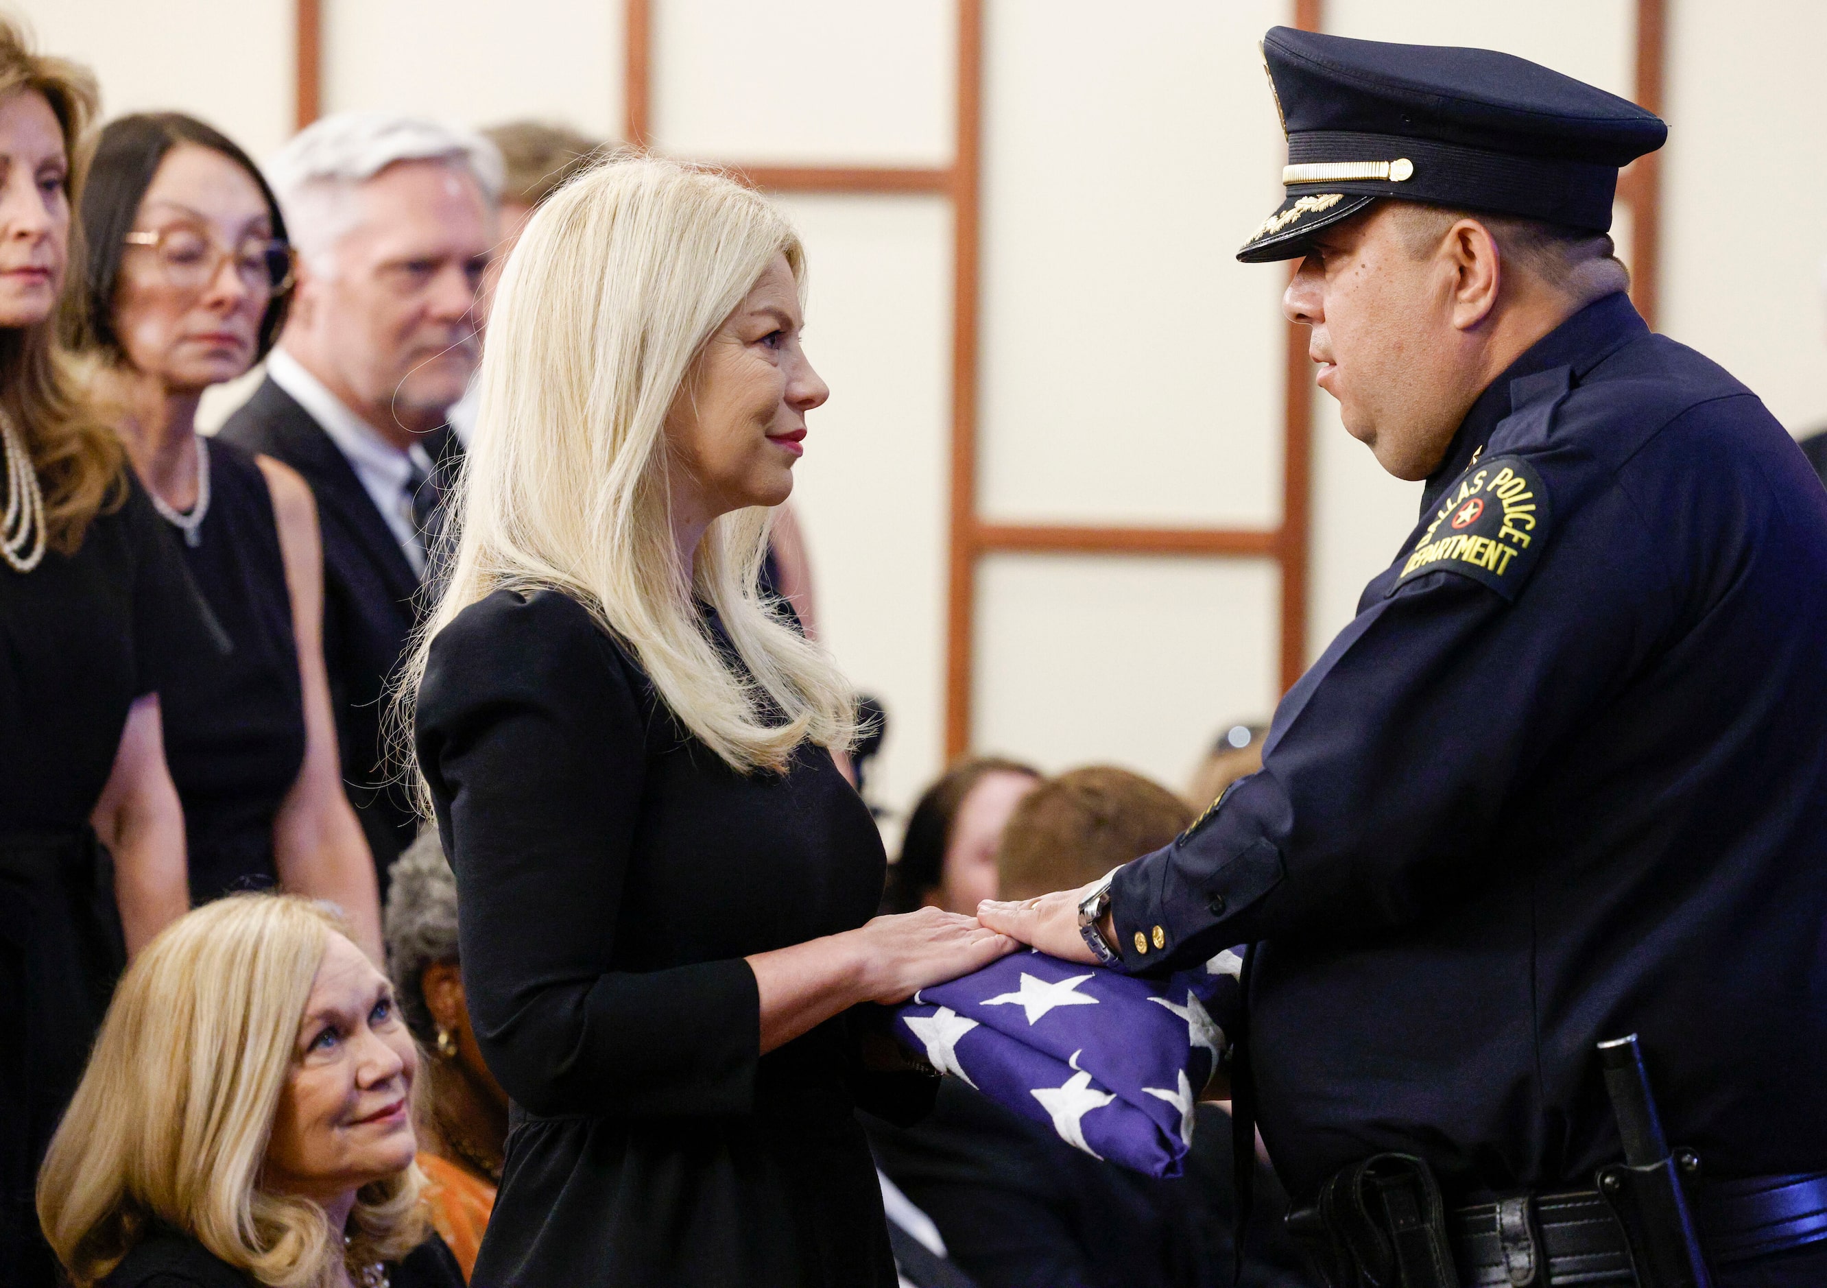
[[[1458,1288],[1440,1182],[1414,1155],[1341,1167],[1319,1202],[1288,1213],[1326,1288]]]

